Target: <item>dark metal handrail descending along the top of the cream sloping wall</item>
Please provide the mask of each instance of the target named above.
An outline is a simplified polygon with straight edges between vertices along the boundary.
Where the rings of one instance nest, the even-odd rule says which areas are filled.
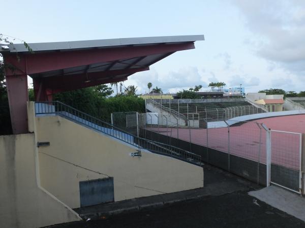
[[[124,129],[118,128],[96,117],[90,116],[89,114],[60,101],[35,102],[35,114],[55,114],[74,122],[78,122],[104,134],[110,135],[130,145],[136,146],[139,150],[141,150],[141,148],[147,149],[157,154],[167,155],[201,166],[200,155],[193,154],[190,151],[180,149],[172,145],[137,137]]]

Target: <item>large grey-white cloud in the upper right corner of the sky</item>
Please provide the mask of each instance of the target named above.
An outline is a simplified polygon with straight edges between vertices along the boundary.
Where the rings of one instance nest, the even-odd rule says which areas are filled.
[[[305,1],[233,0],[253,32],[256,53],[291,72],[305,72]],[[272,67],[271,67],[272,69]]]

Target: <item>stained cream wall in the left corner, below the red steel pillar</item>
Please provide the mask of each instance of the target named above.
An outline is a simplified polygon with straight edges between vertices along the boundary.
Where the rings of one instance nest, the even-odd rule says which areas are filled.
[[[37,178],[34,134],[0,136],[0,227],[41,227],[80,220]]]

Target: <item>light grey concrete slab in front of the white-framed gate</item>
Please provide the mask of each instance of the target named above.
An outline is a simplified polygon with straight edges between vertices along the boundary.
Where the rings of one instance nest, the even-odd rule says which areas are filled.
[[[278,186],[269,186],[258,191],[252,191],[249,192],[249,195],[305,221],[304,197]]]

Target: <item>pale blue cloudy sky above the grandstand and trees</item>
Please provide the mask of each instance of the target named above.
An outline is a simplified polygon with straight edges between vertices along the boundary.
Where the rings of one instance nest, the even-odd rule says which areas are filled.
[[[5,9],[0,33],[27,43],[204,34],[195,49],[131,75],[124,85],[138,93],[148,82],[166,93],[210,82],[305,91],[303,0],[11,0]]]

